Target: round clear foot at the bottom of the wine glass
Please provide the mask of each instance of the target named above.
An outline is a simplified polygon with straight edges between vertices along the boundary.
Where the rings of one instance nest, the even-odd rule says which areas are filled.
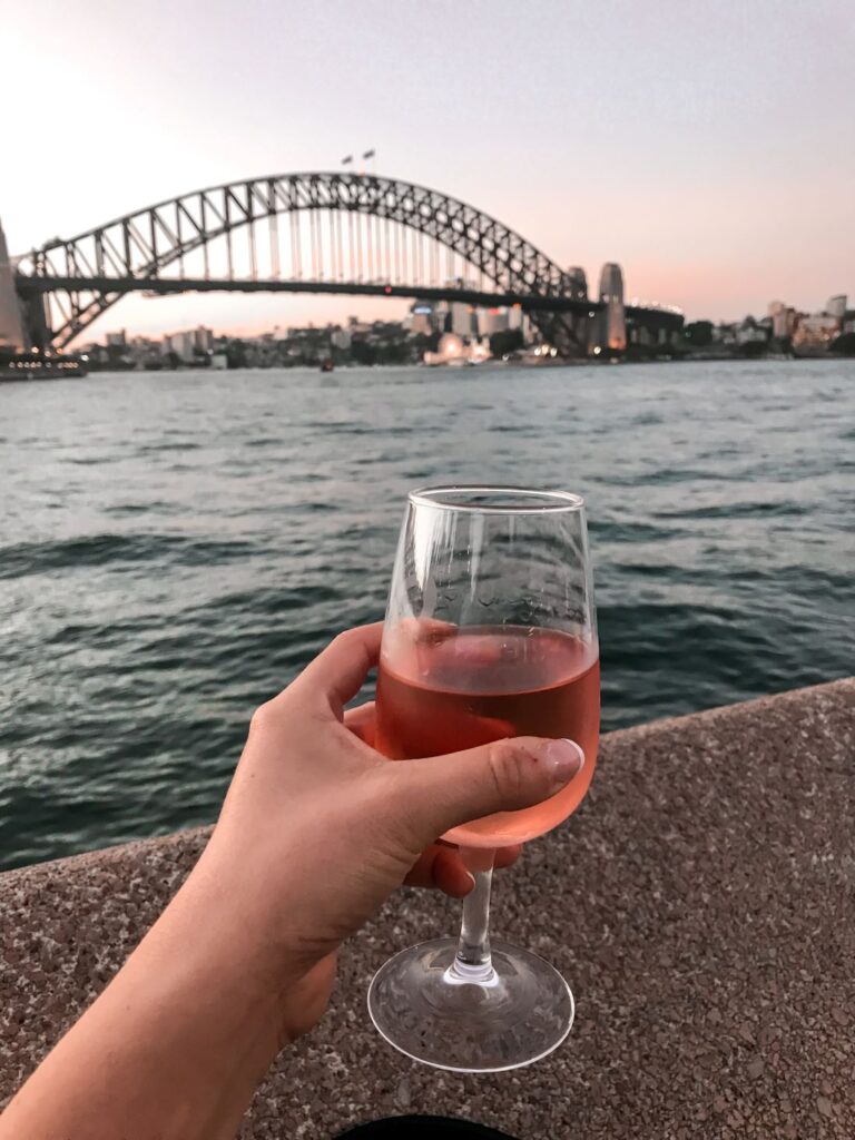
[[[457,942],[401,951],[374,975],[368,1012],[381,1036],[414,1060],[456,1073],[498,1073],[557,1049],[573,1024],[573,995],[543,958],[492,943],[492,969],[451,967]]]

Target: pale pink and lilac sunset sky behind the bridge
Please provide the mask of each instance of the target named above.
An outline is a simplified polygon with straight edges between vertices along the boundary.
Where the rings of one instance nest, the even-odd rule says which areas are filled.
[[[230,179],[376,172],[690,318],[855,304],[850,0],[6,0],[10,251]],[[92,326],[254,331],[400,302],[132,296]]]

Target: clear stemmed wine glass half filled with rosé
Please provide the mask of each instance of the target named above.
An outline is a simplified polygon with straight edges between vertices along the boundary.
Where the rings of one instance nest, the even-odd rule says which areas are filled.
[[[377,748],[392,759],[518,735],[569,739],[584,754],[549,799],[442,837],[475,879],[459,937],[400,952],[368,991],[378,1032],[416,1060],[463,1073],[528,1065],[570,1032],[573,997],[537,954],[490,943],[490,885],[495,848],[561,823],[594,772],[600,659],[578,495],[430,487],[408,496],[376,707]]]

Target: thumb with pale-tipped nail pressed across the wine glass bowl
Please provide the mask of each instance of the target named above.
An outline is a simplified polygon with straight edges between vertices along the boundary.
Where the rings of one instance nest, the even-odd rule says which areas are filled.
[[[548,799],[584,763],[585,754],[572,740],[496,740],[465,752],[396,764],[396,798],[417,831],[414,838],[429,844],[482,815]]]

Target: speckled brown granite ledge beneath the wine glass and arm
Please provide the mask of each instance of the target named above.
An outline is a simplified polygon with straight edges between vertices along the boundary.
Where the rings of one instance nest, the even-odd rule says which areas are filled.
[[[393,951],[454,933],[405,891],[342,955],[333,1008],[283,1053],[245,1138],[329,1138],[448,1113],[524,1140],[855,1137],[855,679],[603,741],[592,792],[502,874],[495,931],[569,978],[577,1020],[528,1069],[398,1056],[365,991]],[[97,993],[205,832],[0,876],[0,1104]]]

